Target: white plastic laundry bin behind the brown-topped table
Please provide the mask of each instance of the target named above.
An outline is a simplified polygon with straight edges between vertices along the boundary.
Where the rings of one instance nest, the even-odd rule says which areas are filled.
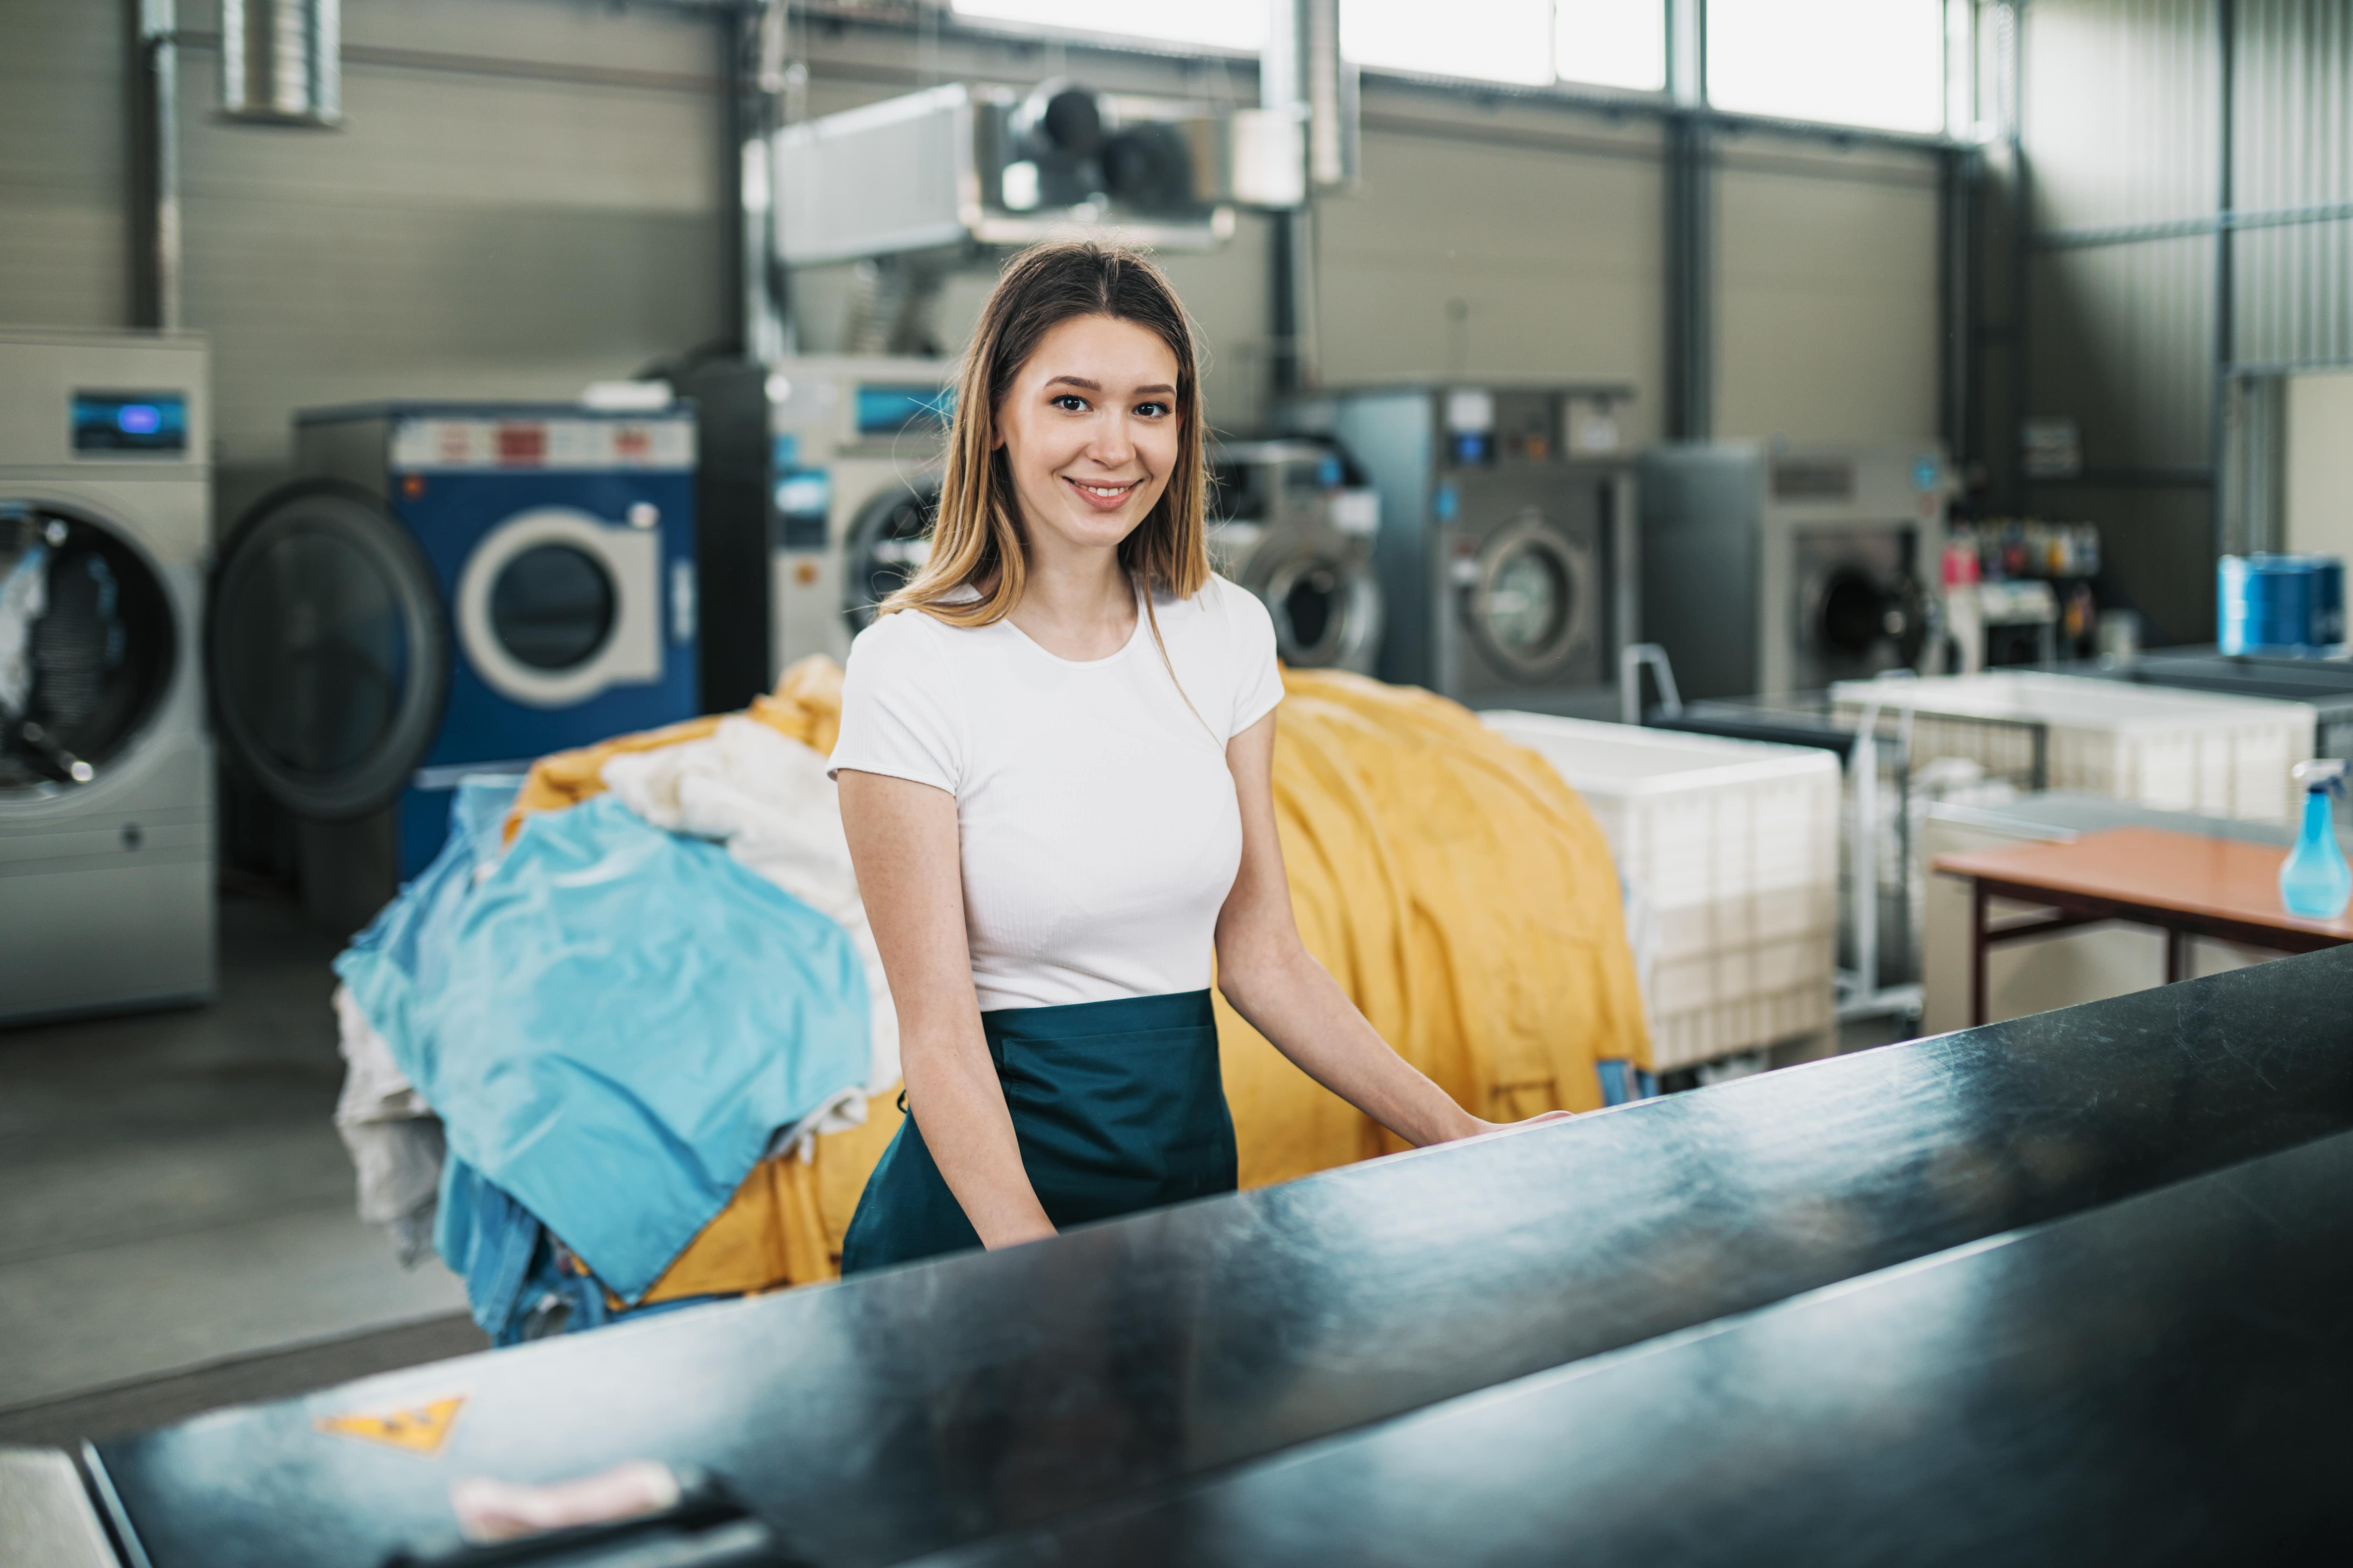
[[[2009,755],[1986,755],[2000,738],[1974,719],[2045,729],[2045,783],[2127,799],[2160,811],[2198,811],[2249,823],[2287,823],[2299,809],[2289,769],[2313,755],[2318,712],[2306,703],[2167,691],[2038,670],[1937,675],[1929,679],[1840,682],[1842,715],[1878,701],[1882,715],[1915,715],[1913,766],[1965,757],[1988,773]],[[1889,719],[1882,719],[1887,729]]]

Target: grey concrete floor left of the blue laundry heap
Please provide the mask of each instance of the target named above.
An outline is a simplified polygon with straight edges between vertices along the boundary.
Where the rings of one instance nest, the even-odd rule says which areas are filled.
[[[482,1345],[459,1281],[353,1213],[336,947],[292,900],[226,896],[212,1006],[0,1030],[0,1434]],[[280,1371],[224,1378],[252,1359]]]

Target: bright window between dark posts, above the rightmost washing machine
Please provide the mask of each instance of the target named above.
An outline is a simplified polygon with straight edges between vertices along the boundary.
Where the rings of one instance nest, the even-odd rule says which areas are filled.
[[[1708,103],[1944,129],[1944,0],[1708,0]]]

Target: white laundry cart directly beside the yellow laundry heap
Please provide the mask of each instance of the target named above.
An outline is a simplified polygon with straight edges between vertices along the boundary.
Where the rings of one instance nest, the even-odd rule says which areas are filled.
[[[1537,712],[1480,717],[1551,762],[1609,839],[1659,1072],[1833,1025],[1835,755]]]

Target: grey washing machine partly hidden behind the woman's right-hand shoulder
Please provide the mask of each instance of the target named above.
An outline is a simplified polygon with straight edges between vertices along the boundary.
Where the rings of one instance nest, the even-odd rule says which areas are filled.
[[[1219,442],[1209,449],[1209,562],[1259,595],[1275,651],[1299,670],[1372,675],[1381,581],[1372,545],[1381,498],[1329,442]]]

